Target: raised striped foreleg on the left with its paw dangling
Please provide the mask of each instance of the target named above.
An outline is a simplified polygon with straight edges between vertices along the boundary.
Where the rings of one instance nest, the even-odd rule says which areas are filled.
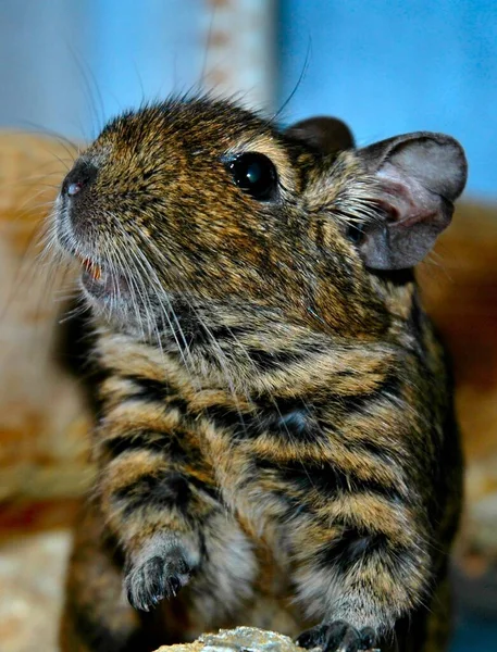
[[[199,568],[202,529],[220,505],[174,432],[111,430],[99,447],[100,505],[125,553],[128,600],[149,611]]]

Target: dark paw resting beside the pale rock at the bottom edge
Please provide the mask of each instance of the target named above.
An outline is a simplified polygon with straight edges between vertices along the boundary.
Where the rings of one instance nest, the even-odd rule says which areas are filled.
[[[321,648],[323,652],[380,652],[371,627],[359,630],[345,620],[322,623],[297,638],[297,644],[308,650]]]

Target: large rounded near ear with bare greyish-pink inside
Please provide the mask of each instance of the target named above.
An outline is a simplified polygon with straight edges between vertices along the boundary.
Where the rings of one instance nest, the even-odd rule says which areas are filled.
[[[377,220],[363,225],[358,248],[373,269],[419,263],[450,224],[468,163],[457,140],[418,131],[357,151],[377,184]]]

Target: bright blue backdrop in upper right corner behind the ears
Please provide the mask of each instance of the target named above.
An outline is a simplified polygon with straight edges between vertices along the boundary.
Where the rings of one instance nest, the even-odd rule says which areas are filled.
[[[469,191],[497,196],[496,0],[289,0],[281,7],[281,101],[308,58],[291,117],[344,116],[360,143],[447,131],[467,150]]]

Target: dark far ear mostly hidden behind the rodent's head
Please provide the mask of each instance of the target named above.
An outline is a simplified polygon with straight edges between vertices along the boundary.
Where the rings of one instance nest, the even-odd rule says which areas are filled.
[[[351,149],[355,145],[350,129],[337,117],[309,117],[295,123],[285,133],[326,154]]]

